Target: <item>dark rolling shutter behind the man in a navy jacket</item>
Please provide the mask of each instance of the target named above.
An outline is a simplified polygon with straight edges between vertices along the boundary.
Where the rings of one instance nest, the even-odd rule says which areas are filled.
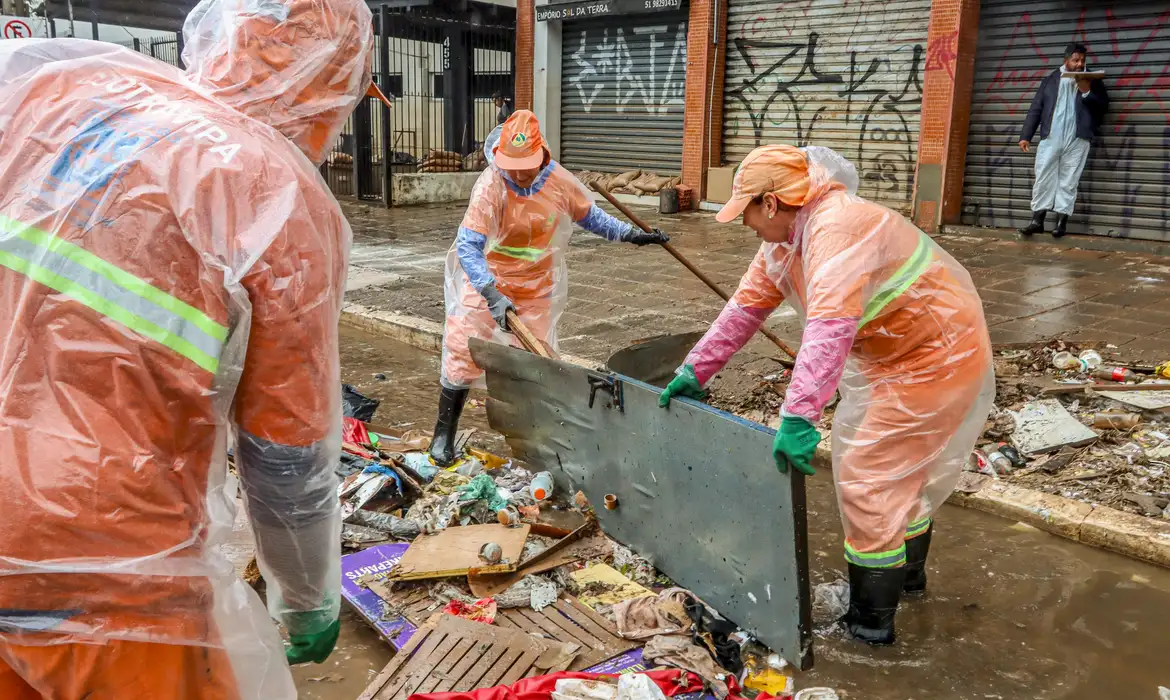
[[[964,224],[1016,228],[1027,222],[1035,149],[1020,152],[1020,129],[1040,80],[1060,66],[1068,42],[1080,41],[1089,48],[1088,67],[1106,71],[1110,104],[1101,138],[1089,151],[1068,229],[1170,240],[1168,12],[1165,0],[983,0]]]

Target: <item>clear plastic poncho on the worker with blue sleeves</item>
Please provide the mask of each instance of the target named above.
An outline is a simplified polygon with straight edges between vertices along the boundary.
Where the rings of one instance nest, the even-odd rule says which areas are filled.
[[[625,241],[633,231],[593,204],[580,180],[551,158],[529,187],[512,183],[495,166],[501,131],[496,126],[483,144],[488,167],[472,190],[447,253],[442,384],[449,389],[483,386],[469,338],[519,346],[493,320],[482,295],[487,286],[495,284],[516,304],[524,325],[556,349],[569,295],[565,249],[573,222],[611,242]]]

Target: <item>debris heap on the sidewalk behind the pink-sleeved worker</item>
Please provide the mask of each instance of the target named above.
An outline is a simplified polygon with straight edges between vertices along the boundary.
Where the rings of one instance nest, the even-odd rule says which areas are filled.
[[[1004,480],[1170,520],[1170,363],[1131,363],[1113,345],[1058,339],[996,345],[994,369],[996,406],[961,490]],[[770,358],[749,359],[714,379],[708,403],[775,427],[790,379]],[[833,406],[819,426],[825,434]]]

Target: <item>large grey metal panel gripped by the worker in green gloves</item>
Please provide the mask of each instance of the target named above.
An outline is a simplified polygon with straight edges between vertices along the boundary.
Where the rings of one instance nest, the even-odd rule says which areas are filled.
[[[488,421],[517,459],[583,490],[601,528],[798,668],[812,665],[805,482],[775,432],[622,375],[472,341]],[[603,507],[606,494],[618,507]]]

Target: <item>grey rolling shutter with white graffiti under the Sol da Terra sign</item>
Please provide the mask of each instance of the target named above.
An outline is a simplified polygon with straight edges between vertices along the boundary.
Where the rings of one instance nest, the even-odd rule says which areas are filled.
[[[682,170],[684,13],[565,22],[560,162],[572,171]]]

